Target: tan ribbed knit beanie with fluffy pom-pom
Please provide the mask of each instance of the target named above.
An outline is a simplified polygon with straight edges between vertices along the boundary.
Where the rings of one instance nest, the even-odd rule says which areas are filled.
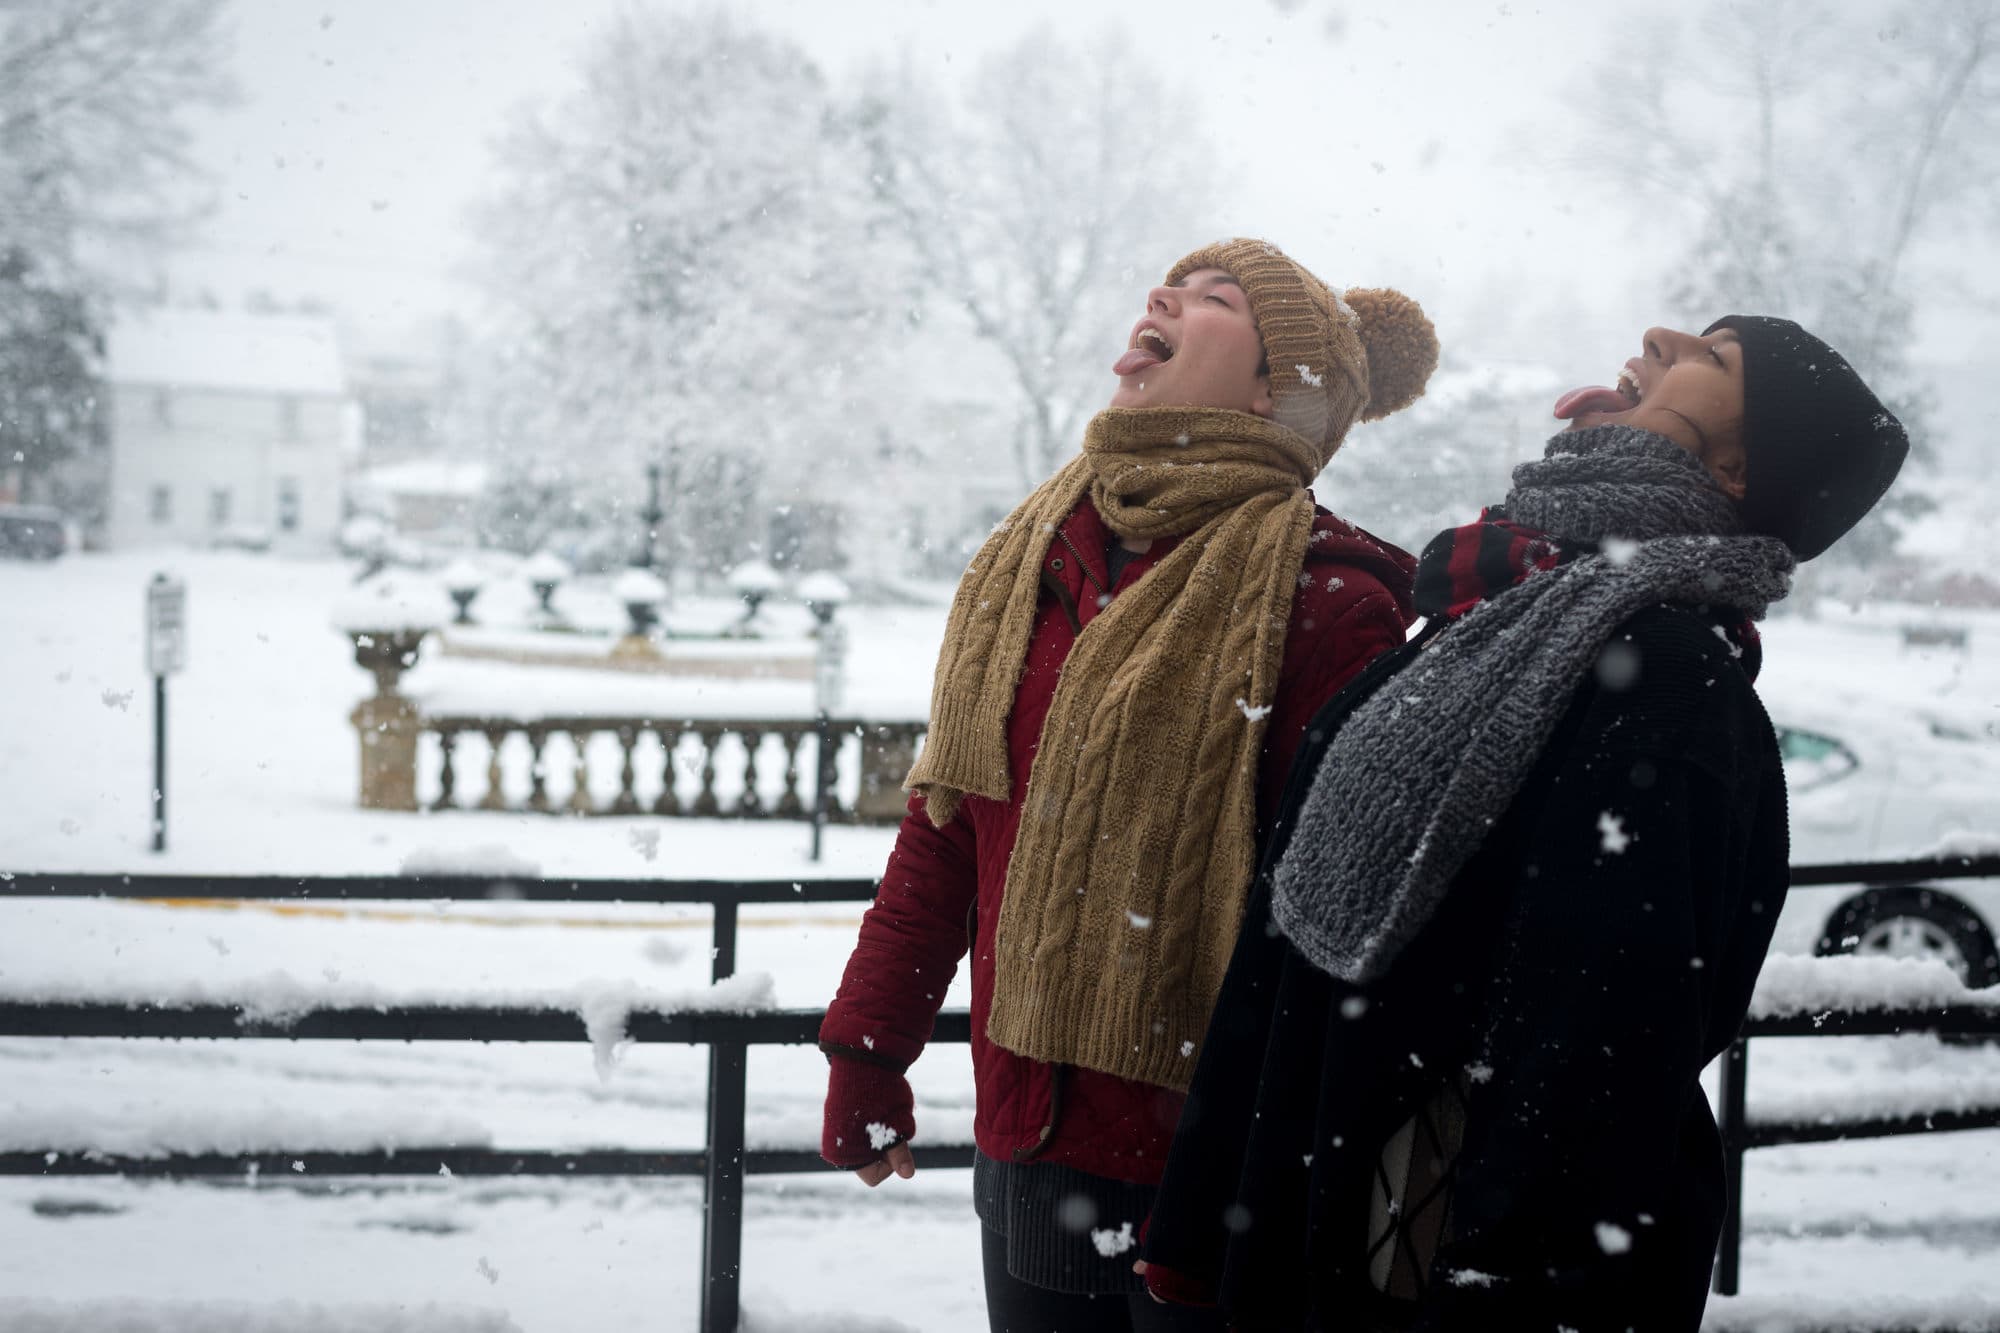
[[[1202,246],[1166,280],[1196,268],[1220,268],[1244,288],[1270,364],[1272,416],[1320,450],[1320,466],[1348,426],[1410,406],[1438,368],[1438,330],[1402,292],[1336,292],[1264,240]]]

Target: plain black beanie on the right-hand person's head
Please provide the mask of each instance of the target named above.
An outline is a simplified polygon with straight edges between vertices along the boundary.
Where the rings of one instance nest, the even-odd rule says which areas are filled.
[[[1854,366],[1792,320],[1724,314],[1744,348],[1744,526],[1810,560],[1874,508],[1910,436]]]

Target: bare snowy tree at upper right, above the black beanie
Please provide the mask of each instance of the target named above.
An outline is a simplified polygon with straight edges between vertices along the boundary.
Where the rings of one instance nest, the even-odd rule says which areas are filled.
[[[1798,318],[1884,394],[1922,466],[1928,390],[1908,358],[1908,262],[1926,232],[1994,202],[2000,4],[1864,14],[1718,0],[1690,30],[1648,34],[1604,62],[1582,162],[1652,216],[1692,222],[1670,274],[1684,318]],[[1886,554],[1926,508],[1916,486],[1898,486],[1836,556]]]

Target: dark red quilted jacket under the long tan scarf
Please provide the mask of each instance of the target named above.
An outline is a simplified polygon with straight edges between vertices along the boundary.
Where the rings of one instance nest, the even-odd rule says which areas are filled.
[[[822,1151],[836,1165],[858,1167],[880,1157],[888,1137],[880,1127],[912,1133],[902,1071],[930,1041],[958,961],[978,945],[972,951],[972,1065],[980,1151],[1000,1161],[1054,1161],[1120,1181],[1160,1181],[1180,1119],[1180,1093],[1092,1069],[1044,1065],[986,1039],[1000,891],[1062,660],[1098,610],[1174,546],[1174,540],[1154,542],[1112,586],[1110,540],[1110,528],[1086,496],[1042,560],[1042,604],[1008,719],[1012,799],[970,797],[944,829],[930,825],[922,797],[910,799],[882,887],[820,1027],[820,1049],[834,1065]],[[1414,568],[1406,552],[1318,510],[1258,773],[1260,823],[1270,819],[1284,791],[1292,753],[1312,715],[1370,658],[1404,640],[1414,614]]]

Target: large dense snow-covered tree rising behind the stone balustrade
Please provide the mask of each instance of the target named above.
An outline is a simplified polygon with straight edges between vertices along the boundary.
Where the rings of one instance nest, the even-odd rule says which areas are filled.
[[[820,70],[722,10],[622,10],[580,84],[518,116],[482,208],[490,444],[626,526],[662,466],[664,552],[728,568],[768,480],[860,434],[846,408],[902,314],[862,160]]]

